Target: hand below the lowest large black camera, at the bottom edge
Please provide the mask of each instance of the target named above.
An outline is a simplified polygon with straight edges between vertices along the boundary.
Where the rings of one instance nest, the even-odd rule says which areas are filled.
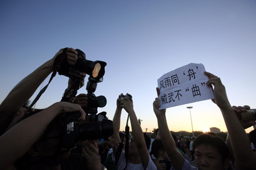
[[[93,141],[83,141],[83,155],[87,160],[87,168],[92,170],[102,170],[103,165],[99,161],[99,151],[97,147],[97,143],[95,140]]]

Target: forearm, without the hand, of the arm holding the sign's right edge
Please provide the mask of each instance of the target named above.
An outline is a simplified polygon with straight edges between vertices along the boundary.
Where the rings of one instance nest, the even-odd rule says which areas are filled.
[[[233,109],[230,106],[221,109],[221,112],[227,127],[234,158],[236,160],[235,164],[248,166],[253,164],[253,166],[255,166],[256,159],[250,147],[250,141],[239,119],[236,114],[234,114]]]

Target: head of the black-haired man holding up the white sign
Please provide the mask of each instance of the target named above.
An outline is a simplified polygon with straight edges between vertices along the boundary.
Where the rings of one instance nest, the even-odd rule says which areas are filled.
[[[215,135],[201,134],[193,141],[198,169],[226,169],[229,152],[225,141]]]

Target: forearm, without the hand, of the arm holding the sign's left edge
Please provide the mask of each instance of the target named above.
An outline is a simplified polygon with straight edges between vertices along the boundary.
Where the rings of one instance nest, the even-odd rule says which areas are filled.
[[[168,157],[170,158],[170,161],[173,162],[173,166],[175,169],[182,169],[185,159],[178,151],[173,136],[172,134],[170,134],[165,114],[157,116],[157,122],[158,129],[161,134],[161,140],[164,145],[164,149],[166,150]]]

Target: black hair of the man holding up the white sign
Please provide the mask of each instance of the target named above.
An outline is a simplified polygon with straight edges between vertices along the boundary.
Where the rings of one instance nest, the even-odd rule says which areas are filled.
[[[201,144],[210,145],[211,147],[216,148],[222,156],[222,161],[229,158],[227,144],[220,136],[212,134],[200,134],[193,141],[193,150],[195,150]]]

